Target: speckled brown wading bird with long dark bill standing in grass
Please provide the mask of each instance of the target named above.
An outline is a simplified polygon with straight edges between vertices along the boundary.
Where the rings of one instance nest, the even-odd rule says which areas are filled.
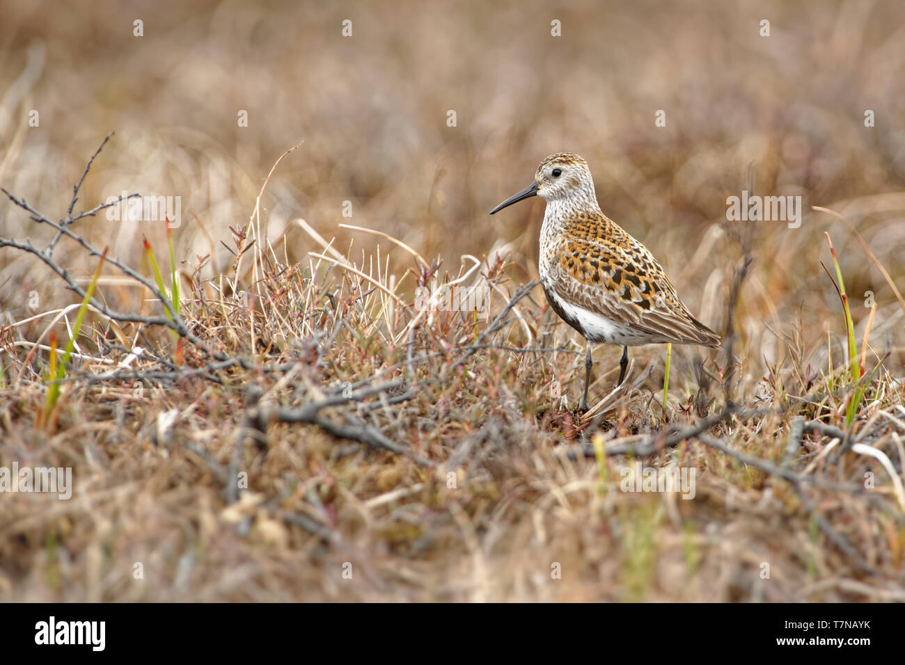
[[[559,318],[586,340],[582,413],[588,410],[591,351],[597,344],[623,347],[617,386],[625,378],[628,347],[719,348],[719,335],[691,316],[653,254],[600,209],[584,159],[569,152],[550,155],[534,181],[491,214],[531,196],[547,201],[538,261],[544,295]]]

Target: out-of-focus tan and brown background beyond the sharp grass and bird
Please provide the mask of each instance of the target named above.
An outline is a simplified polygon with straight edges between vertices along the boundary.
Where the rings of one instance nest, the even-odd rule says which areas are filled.
[[[543,202],[488,212],[529,184],[543,157],[569,150],[591,166],[604,212],[718,330],[742,253],[727,233],[727,196],[751,183],[759,195],[801,195],[800,228],[750,227],[756,262],[737,328],[751,371],[776,361],[779,336],[795,329],[816,353],[829,331],[842,353],[839,300],[820,267],[830,266],[824,232],[855,323],[871,292],[872,343],[901,367],[890,287],[844,223],[810,211],[845,215],[905,290],[901,2],[3,0],[0,15],[0,185],[62,216],[87,158],[115,131],[76,210],[123,190],[180,196],[186,271],[205,254],[203,277],[228,267],[229,227],[247,223],[274,161],[303,140],[262,198],[271,240],[287,234],[291,261],[320,249],[293,223],[301,217],[337,236],[340,251],[352,236],[338,223],[353,223],[452,271],[462,254],[503,252],[511,277],[529,280]],[[48,231],[0,203],[5,237]],[[159,223],[98,216],[81,232],[132,265],[142,235],[165,247]],[[370,253],[374,240],[357,234],[355,247]],[[61,245],[59,260],[87,275],[93,263],[70,249]],[[410,264],[391,252],[391,270]],[[0,250],[0,310],[23,318],[31,290],[43,308],[74,300],[33,257]]]

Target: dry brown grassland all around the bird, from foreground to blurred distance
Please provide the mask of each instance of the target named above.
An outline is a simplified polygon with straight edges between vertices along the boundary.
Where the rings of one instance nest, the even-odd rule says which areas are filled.
[[[149,15],[143,42],[119,34],[131,14],[94,11],[97,38],[64,16],[51,38],[40,7],[9,8],[0,185],[61,219],[116,128],[80,201],[183,197],[190,335],[104,316],[165,313],[108,264],[45,413],[50,332],[68,339],[81,299],[0,249],[0,466],[71,466],[75,485],[70,500],[0,495],[0,598],[905,600],[897,486],[857,447],[901,478],[905,8],[635,3],[592,23],[577,5],[540,20],[476,3],[413,7],[391,26],[370,4],[223,4]],[[237,109],[250,128],[235,128]],[[586,157],[605,212],[692,311],[735,332],[731,360],[673,348],[665,411],[665,348],[643,347],[632,390],[604,421],[577,422],[558,397],[580,397],[583,344],[538,288],[510,302],[537,275],[541,205],[486,213],[560,149]],[[819,211],[797,229],[725,222],[726,196],[748,185],[841,214],[869,252]],[[72,230],[150,279],[147,235],[168,283],[166,233],[142,224],[99,215]],[[824,232],[864,354],[851,427],[859,386]],[[52,229],[5,200],[0,237],[41,247]],[[87,286],[96,258],[65,238],[54,257]],[[490,290],[488,318],[414,306],[419,286],[457,277]],[[118,367],[136,345],[154,356]],[[598,400],[619,353],[595,353]],[[801,431],[814,421],[822,432]],[[830,426],[856,447],[839,455]],[[790,437],[801,445],[786,456]],[[615,452],[643,443],[662,449],[645,464],[697,471],[694,499],[620,491],[632,461]]]

